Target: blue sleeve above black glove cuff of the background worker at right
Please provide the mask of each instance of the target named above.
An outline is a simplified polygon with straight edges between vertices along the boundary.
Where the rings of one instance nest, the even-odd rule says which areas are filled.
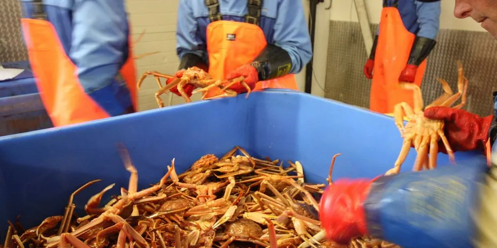
[[[440,29],[440,1],[433,3],[421,3],[414,1],[416,5],[417,22],[419,31],[417,36],[435,39]]]

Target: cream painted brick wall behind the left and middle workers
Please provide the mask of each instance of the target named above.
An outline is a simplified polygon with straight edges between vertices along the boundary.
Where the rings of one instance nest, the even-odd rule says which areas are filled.
[[[133,39],[145,31],[140,42],[135,44],[134,55],[158,52],[135,61],[137,77],[149,70],[159,71],[165,74],[173,74],[179,66],[176,56],[175,30],[177,22],[177,7],[179,0],[127,0],[127,10],[131,23]],[[304,6],[308,3],[303,0]],[[307,9],[306,9],[307,12]],[[304,89],[305,69],[297,75],[299,89]],[[165,84],[165,80],[163,85]],[[138,92],[138,110],[144,111],[157,108],[154,94],[159,90],[154,77],[145,79]],[[168,104],[169,95],[163,94],[162,100]],[[174,94],[172,105],[185,103],[182,97]],[[192,101],[198,101],[200,94],[192,96]]]

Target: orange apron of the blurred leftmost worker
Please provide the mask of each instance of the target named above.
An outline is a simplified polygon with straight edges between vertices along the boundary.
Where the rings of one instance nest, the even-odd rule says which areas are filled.
[[[41,19],[21,19],[29,62],[43,104],[54,127],[110,117],[80,85],[77,67],[65,54],[53,25]],[[136,109],[136,72],[129,51],[120,69]]]

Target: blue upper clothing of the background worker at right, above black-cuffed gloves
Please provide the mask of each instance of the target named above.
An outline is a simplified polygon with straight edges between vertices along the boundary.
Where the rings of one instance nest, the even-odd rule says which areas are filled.
[[[418,34],[420,24],[418,19],[424,18],[429,20],[425,25],[431,27],[425,28],[425,34],[420,35],[434,39],[439,29],[440,4],[439,3],[421,3],[416,0],[384,0],[383,7],[397,8],[406,29]]]

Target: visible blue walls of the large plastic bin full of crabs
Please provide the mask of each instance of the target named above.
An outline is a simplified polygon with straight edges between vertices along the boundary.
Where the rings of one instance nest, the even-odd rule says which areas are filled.
[[[324,183],[331,158],[334,179],[375,177],[392,168],[402,139],[393,118],[293,91],[270,90],[202,101],[0,138],[0,234],[20,215],[24,227],[62,215],[69,194],[94,179],[75,199],[82,216],[89,197],[127,187],[129,173],[116,150],[123,142],[138,169],[139,187],[156,183],[175,158],[183,172],[200,156],[234,146],[256,157],[300,161],[305,180]],[[456,153],[456,159],[475,156]],[[411,151],[403,171],[412,168]],[[448,159],[440,154],[439,163]]]

